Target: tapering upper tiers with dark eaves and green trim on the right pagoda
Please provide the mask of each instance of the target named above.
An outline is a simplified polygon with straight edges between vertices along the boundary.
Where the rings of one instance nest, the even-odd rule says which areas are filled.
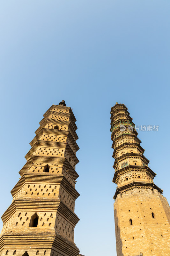
[[[144,157],[144,149],[140,146],[137,131],[128,109],[124,104],[118,104],[111,109],[111,139],[114,148],[113,182],[118,185],[114,198],[127,188],[158,188],[153,179],[156,175],[149,167],[149,160]]]

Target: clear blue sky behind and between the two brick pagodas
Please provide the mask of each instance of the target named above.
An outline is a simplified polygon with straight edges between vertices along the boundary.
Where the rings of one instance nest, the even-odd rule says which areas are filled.
[[[138,137],[170,202],[169,13],[169,0],[0,2],[1,216],[43,114],[61,100],[78,126],[82,254],[116,256],[109,131],[116,101],[136,125],[159,125]]]

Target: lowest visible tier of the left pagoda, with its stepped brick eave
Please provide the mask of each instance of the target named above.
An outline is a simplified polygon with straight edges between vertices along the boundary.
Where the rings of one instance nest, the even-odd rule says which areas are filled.
[[[77,256],[79,252],[74,243],[57,232],[5,232],[0,239],[1,256]]]

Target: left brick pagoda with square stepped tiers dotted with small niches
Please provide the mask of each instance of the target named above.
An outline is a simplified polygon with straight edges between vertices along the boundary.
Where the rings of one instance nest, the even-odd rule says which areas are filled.
[[[2,216],[0,255],[77,256],[76,118],[62,101],[44,114]]]

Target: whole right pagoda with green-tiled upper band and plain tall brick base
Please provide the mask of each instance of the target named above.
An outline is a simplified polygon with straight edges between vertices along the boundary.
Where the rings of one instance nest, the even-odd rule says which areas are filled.
[[[170,255],[170,207],[153,179],[124,104],[111,108],[117,256]]]

